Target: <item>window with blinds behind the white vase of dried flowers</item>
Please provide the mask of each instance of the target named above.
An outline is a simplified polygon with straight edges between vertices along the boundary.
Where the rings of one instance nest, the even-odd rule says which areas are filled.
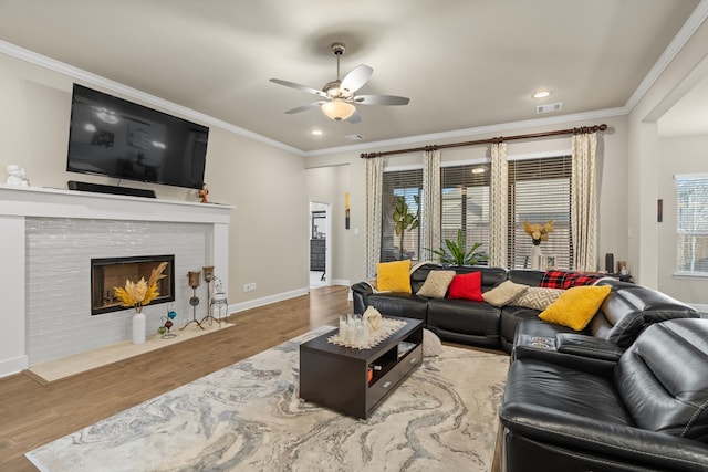
[[[509,162],[509,268],[529,268],[531,237],[523,221],[553,220],[553,232],[541,252],[555,256],[556,269],[572,269],[571,156],[512,160]]]

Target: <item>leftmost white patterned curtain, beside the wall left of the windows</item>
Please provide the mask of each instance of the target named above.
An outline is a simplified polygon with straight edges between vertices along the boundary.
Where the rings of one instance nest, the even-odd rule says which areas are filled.
[[[364,277],[376,276],[376,264],[381,259],[381,219],[384,180],[384,159],[366,159],[366,235],[364,240]]]

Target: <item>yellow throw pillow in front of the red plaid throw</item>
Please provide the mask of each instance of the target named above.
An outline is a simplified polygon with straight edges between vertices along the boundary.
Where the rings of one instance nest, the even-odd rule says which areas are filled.
[[[610,286],[574,286],[561,294],[539,318],[581,331],[595,316],[610,293]]]

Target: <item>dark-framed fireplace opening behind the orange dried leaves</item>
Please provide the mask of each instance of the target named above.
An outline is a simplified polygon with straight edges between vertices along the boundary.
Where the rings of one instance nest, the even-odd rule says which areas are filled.
[[[153,269],[167,262],[157,281],[159,296],[149,305],[175,301],[175,255],[144,255],[132,258],[103,258],[91,260],[91,314],[117,312],[125,310],[115,296],[114,287],[125,286],[125,281],[137,282],[140,277],[149,280]]]

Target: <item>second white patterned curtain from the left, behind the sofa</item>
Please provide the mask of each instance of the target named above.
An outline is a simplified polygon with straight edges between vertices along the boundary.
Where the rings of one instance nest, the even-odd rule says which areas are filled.
[[[420,201],[420,261],[430,259],[428,249],[440,247],[440,150],[423,155],[423,199]]]

